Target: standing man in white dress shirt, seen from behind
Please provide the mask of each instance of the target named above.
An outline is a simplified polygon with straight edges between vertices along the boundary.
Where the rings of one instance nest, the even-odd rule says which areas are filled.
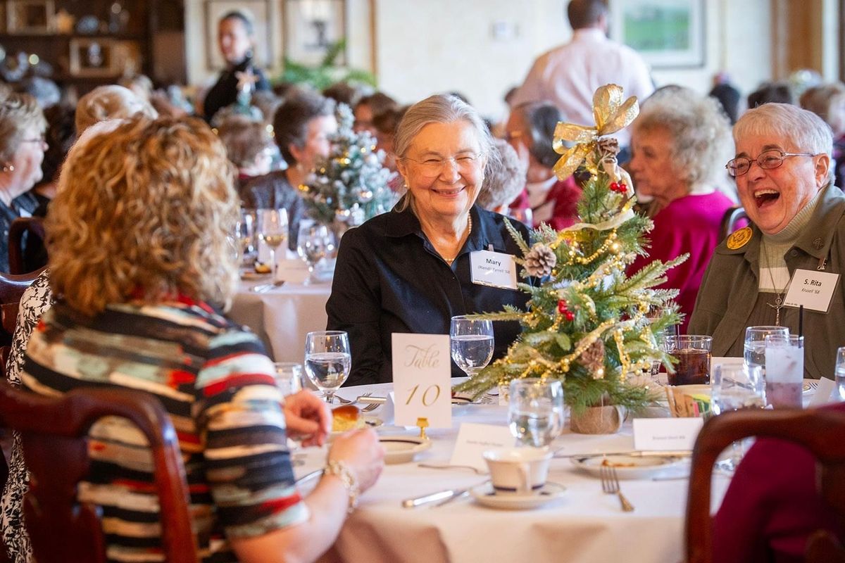
[[[629,46],[608,39],[608,5],[605,0],[572,0],[567,7],[573,35],[566,45],[543,53],[528,72],[510,107],[528,101],[550,101],[564,120],[594,125],[592,95],[599,86],[619,84],[625,97],[644,100],[654,86],[642,57]],[[616,134],[627,147],[630,133]]]

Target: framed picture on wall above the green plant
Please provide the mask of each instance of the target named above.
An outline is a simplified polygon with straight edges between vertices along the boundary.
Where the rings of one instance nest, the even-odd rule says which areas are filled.
[[[285,57],[308,66],[323,62],[329,49],[346,38],[346,0],[283,0]],[[346,66],[346,46],[335,59]]]

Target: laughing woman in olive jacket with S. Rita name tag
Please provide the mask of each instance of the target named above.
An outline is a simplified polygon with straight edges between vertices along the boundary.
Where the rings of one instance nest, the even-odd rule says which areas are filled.
[[[780,325],[797,334],[799,310],[784,306],[790,284],[834,273],[837,279],[821,286],[808,281],[819,295],[831,292],[817,305],[823,310],[804,308],[804,374],[831,377],[837,347],[845,343],[838,279],[845,268],[845,196],[832,181],[831,127],[811,111],[770,103],[740,117],[733,140],[728,173],[752,225],[714,252],[690,332],[712,334],[718,356],[743,354],[746,327]]]

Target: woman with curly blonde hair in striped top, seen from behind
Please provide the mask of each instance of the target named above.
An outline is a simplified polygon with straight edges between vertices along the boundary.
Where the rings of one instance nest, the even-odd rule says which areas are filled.
[[[330,413],[309,392],[282,398],[259,339],[217,308],[237,281],[226,150],[199,119],[111,127],[80,139],[63,167],[46,222],[57,301],[27,345],[23,385],[149,392],[178,430],[204,560],[315,560],[378,478],[378,439],[339,437],[316,489],[299,495],[287,436],[323,444]],[[137,448],[119,420],[91,430],[96,485],[80,495],[121,513],[106,530],[110,560],[161,554],[151,457]]]

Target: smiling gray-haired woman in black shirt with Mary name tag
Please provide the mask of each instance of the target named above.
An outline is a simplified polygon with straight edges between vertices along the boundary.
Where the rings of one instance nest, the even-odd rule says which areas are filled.
[[[485,167],[498,157],[478,112],[455,96],[433,95],[408,109],[394,143],[408,191],[392,212],[343,236],[326,305],[328,328],[349,333],[350,385],[392,381],[392,333],[448,334],[455,315],[522,307],[527,299],[479,275],[486,257],[514,268],[518,247],[504,218],[475,204]],[[493,329],[499,357],[519,326]],[[452,374],[463,375],[454,364]]]

